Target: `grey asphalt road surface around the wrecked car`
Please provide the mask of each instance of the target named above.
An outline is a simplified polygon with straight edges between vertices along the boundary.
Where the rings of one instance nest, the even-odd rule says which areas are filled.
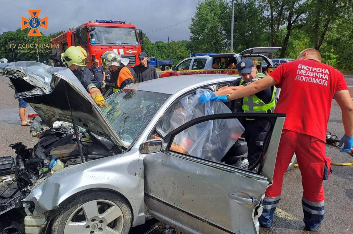
[[[158,72],[159,73],[159,72]],[[353,91],[353,76],[345,76],[349,89]],[[8,145],[18,141],[33,147],[37,142],[31,138],[29,127],[20,126],[18,117],[18,101],[13,98],[14,91],[4,82],[7,78],[0,76],[0,155],[15,155]],[[353,92],[352,92],[353,93]],[[28,113],[33,112],[28,108]],[[341,111],[333,100],[328,130],[333,135],[341,137],[344,133]],[[326,154],[333,162],[353,162],[349,153],[340,153],[334,146],[326,146]],[[332,166],[330,181],[324,181],[325,189],[325,219],[319,226],[318,234],[353,233],[353,166]],[[298,167],[294,167],[285,174],[283,180],[282,199],[275,213],[273,226],[269,229],[261,229],[262,234],[304,234],[312,233],[304,230],[303,211],[301,208],[302,197],[301,176]],[[131,234],[176,233],[172,229],[166,230],[164,224],[156,220],[135,227]],[[6,232],[5,232],[6,233]],[[11,233],[11,232],[7,232]]]

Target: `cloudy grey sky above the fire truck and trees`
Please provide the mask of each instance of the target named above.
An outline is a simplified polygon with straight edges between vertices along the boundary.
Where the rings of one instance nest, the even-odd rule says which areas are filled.
[[[50,2],[50,3],[49,3]],[[54,4],[55,2],[55,4]],[[14,31],[21,25],[21,16],[29,18],[28,9],[42,10],[39,18],[48,16],[48,30],[40,29],[45,35],[76,27],[89,20],[122,20],[136,25],[152,42],[189,39],[188,26],[194,16],[197,0],[0,0],[0,34]],[[147,33],[150,32],[150,33]]]

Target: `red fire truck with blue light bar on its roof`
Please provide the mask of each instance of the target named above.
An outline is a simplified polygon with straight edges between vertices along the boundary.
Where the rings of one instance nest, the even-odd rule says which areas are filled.
[[[130,67],[138,65],[138,53],[143,44],[142,31],[126,21],[117,20],[91,20],[81,24],[73,30],[68,30],[50,41],[51,44],[59,44],[52,49],[53,57],[63,53],[70,46],[80,45],[87,51],[87,68],[94,66],[95,58],[101,64],[101,55],[108,50],[114,51],[121,57],[129,58]]]

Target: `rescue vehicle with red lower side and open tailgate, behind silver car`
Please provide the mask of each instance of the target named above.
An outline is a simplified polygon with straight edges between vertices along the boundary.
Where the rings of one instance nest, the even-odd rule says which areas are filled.
[[[256,60],[259,72],[269,74],[273,68],[273,62],[267,57],[270,53],[275,53],[281,47],[256,47],[242,51],[241,53],[225,53],[192,56],[185,58],[171,70],[161,72],[160,78],[175,75],[192,74],[228,74],[238,75],[237,64],[243,58]],[[262,63],[270,64],[269,69],[263,69]],[[267,66],[266,66],[267,67]]]

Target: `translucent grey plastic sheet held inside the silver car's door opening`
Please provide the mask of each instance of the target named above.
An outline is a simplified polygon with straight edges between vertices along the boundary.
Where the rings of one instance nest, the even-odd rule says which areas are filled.
[[[192,119],[221,113],[231,113],[222,102],[209,101],[201,104],[202,95],[213,92],[198,89],[196,93],[181,98],[157,125],[157,131],[163,137],[170,131]],[[244,127],[238,119],[217,119],[196,124],[174,137],[173,144],[181,146],[189,155],[212,161],[221,161],[235,141],[244,133]]]

